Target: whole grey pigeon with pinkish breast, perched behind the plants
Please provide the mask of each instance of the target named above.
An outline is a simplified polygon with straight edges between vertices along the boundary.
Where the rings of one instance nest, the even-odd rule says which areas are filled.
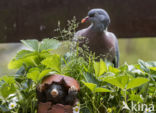
[[[74,40],[79,42],[79,46],[83,48],[86,44],[89,51],[112,62],[115,67],[119,63],[118,40],[116,36],[107,31],[110,24],[110,17],[103,9],[91,9],[88,16],[82,19],[81,23],[91,22],[88,28],[79,30],[75,34]],[[84,38],[82,38],[84,37]]]

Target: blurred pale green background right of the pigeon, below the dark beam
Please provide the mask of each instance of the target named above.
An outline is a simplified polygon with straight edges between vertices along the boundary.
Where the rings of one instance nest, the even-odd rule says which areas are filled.
[[[138,59],[144,61],[156,60],[156,38],[125,38],[119,39],[120,64],[136,63]]]

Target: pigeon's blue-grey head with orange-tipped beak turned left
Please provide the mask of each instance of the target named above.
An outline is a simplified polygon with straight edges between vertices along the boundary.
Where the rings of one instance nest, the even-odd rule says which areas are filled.
[[[89,21],[95,25],[102,24],[106,29],[110,23],[110,17],[108,13],[103,9],[91,9],[88,12],[88,16],[82,19],[81,23]]]

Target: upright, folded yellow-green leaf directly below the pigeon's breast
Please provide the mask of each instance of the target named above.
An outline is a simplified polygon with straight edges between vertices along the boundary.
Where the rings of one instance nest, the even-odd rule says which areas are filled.
[[[107,65],[102,59],[100,59],[100,62],[94,62],[94,70],[95,75],[99,77],[107,71]]]

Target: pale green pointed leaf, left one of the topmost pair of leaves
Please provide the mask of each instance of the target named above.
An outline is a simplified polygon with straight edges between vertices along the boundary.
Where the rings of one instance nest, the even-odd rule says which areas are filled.
[[[21,40],[21,42],[28,48],[32,49],[33,51],[39,50],[39,42],[36,39],[32,40]]]

